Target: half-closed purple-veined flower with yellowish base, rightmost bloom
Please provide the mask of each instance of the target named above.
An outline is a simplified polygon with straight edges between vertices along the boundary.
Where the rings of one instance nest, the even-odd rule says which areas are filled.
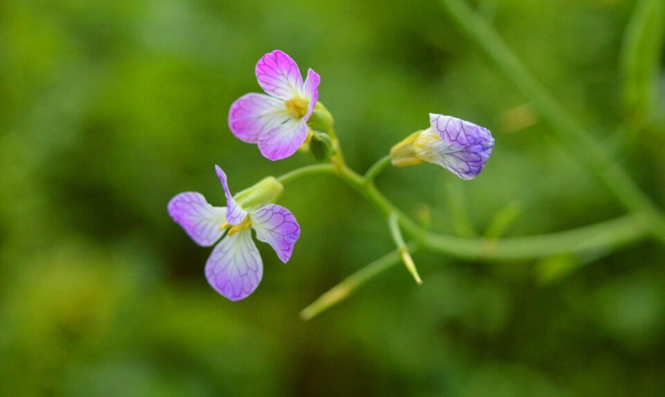
[[[429,124],[393,146],[391,163],[396,167],[434,163],[462,179],[478,176],[494,149],[490,130],[435,113],[429,113]]]

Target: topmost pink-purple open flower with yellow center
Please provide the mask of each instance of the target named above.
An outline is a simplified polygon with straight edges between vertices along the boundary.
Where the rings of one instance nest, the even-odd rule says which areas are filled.
[[[233,102],[229,128],[243,142],[258,143],[265,158],[287,158],[307,138],[307,120],[319,98],[321,77],[309,69],[303,83],[296,62],[274,50],[259,59],[256,79],[267,95],[249,93]]]

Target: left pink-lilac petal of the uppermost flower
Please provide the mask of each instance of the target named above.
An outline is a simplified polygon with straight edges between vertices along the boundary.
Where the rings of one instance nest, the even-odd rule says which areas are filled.
[[[256,143],[261,133],[290,117],[283,100],[265,94],[249,93],[233,102],[229,110],[229,128],[236,138]]]

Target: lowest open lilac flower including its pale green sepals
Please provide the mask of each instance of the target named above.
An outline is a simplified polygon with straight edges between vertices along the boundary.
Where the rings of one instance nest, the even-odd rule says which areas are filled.
[[[202,194],[185,192],[171,199],[168,213],[199,246],[212,246],[222,239],[206,262],[206,277],[218,293],[236,301],[253,293],[263,277],[263,262],[251,239],[250,228],[259,241],[269,243],[286,263],[300,237],[300,226],[285,207],[263,205],[282,190],[274,178],[266,178],[240,192],[237,196],[252,198],[243,203],[254,201],[244,208],[231,196],[224,171],[218,165],[215,169],[227,196],[227,207],[213,207]],[[262,199],[256,200],[257,197]]]

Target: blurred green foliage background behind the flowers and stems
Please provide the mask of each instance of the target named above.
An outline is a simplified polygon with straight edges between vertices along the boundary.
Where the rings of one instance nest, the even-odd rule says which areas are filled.
[[[608,140],[635,2],[484,1],[564,107]],[[665,17],[665,16],[664,16]],[[260,288],[231,303],[210,249],[172,222],[183,191],[224,203],[310,158],[272,163],[233,138],[233,100],[260,91],[275,48],[321,75],[348,163],[364,171],[427,113],[472,120],[496,147],[475,181],[433,165],[378,185],[432,227],[472,237],[506,207],[522,236],[624,213],[436,1],[0,3],[1,396],[663,396],[665,250],[642,241],[544,261],[420,252],[310,322],[299,311],[393,249],[381,216],[330,176],[287,185],[302,227]],[[663,48],[654,48],[662,55]],[[662,59],[662,57],[661,57]],[[665,80],[617,158],[665,202]]]

